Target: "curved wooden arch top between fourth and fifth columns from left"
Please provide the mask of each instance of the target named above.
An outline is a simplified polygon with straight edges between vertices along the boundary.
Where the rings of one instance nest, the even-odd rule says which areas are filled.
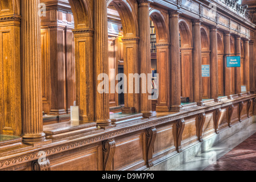
[[[181,38],[181,48],[192,47],[192,30],[191,27],[189,26],[188,20],[180,18],[179,29]]]

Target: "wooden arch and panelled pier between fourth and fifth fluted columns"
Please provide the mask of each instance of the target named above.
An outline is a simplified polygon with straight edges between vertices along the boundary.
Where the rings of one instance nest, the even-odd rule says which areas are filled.
[[[193,40],[192,23],[185,18],[179,19],[180,30],[180,61],[181,61],[181,97],[193,101]]]

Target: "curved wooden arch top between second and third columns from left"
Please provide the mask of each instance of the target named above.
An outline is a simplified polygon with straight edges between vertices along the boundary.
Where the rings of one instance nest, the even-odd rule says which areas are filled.
[[[129,0],[108,0],[107,7],[113,4],[121,18],[123,26],[123,36],[132,38],[139,36],[138,22],[136,19],[135,9]]]

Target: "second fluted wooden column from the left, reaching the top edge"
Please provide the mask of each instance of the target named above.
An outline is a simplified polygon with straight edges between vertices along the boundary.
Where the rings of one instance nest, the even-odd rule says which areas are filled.
[[[109,94],[99,93],[97,86],[102,80],[97,80],[98,75],[109,73],[109,59],[108,59],[108,16],[107,6],[105,0],[94,1],[94,62],[95,62],[95,76],[96,76],[96,90],[95,90],[95,104],[97,109],[96,122],[101,127],[111,125],[109,119]],[[106,80],[109,81],[109,80]]]

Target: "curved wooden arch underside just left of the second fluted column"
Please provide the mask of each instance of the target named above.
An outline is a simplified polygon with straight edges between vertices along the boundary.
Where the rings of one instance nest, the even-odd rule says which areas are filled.
[[[68,0],[75,20],[75,29],[93,28],[93,16],[88,0]]]

